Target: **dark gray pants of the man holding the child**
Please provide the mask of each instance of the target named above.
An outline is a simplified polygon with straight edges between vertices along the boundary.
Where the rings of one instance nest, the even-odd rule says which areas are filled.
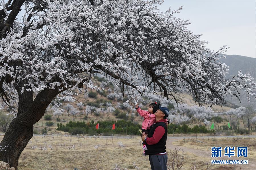
[[[167,170],[167,154],[149,155],[149,162],[152,170]]]

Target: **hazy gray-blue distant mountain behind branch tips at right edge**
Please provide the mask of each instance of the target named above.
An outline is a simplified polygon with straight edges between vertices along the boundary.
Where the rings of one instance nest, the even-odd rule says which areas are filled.
[[[220,59],[222,63],[227,64],[229,66],[229,74],[227,75],[228,78],[233,78],[234,75],[237,75],[237,72],[239,70],[242,71],[242,73],[250,74],[252,77],[255,78],[256,81],[256,58],[251,58],[251,57],[246,57],[246,56],[239,56],[239,55],[225,55],[225,58]],[[240,91],[241,93],[241,103],[239,102],[238,99],[235,97],[231,98],[226,98],[226,100],[230,103],[233,103],[237,106],[246,106],[249,104],[256,104],[256,100],[253,96],[250,98],[250,102],[247,101],[247,95],[244,93],[244,91]],[[228,104],[227,104],[228,105]]]

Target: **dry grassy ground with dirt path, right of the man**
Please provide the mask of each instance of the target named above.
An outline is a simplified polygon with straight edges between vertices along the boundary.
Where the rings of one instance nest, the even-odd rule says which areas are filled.
[[[198,141],[197,141],[198,140]],[[185,150],[185,155],[190,155],[190,159],[194,159],[194,162],[197,162],[197,166],[199,169],[245,169],[245,170],[255,170],[256,169],[256,138],[246,138],[246,137],[225,137],[225,138],[191,138],[184,140],[176,140],[172,142],[173,147],[177,146],[183,150]],[[248,157],[241,158],[247,159],[248,165],[211,165],[211,147],[213,146],[222,146],[222,157],[219,159],[240,159],[236,156],[228,158],[224,156],[224,148],[226,146],[235,146],[235,154],[237,154],[236,148],[237,146],[247,146],[248,147]],[[192,154],[191,154],[192,153]],[[191,161],[192,163],[193,161]],[[201,163],[201,166],[200,166]],[[209,163],[207,165],[207,163]],[[185,169],[189,169],[189,167],[183,166]]]

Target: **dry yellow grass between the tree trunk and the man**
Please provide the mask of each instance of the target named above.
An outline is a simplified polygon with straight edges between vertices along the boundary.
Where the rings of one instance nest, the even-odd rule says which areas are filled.
[[[136,162],[140,169],[148,169],[148,157],[142,156],[139,137],[90,138],[70,136],[35,136],[19,159],[19,169],[133,169]],[[119,147],[122,142],[124,148]],[[97,148],[97,145],[99,147]],[[35,149],[33,147],[36,146]],[[51,148],[52,146],[52,148]],[[45,148],[47,148],[45,150]],[[142,168],[144,167],[144,168]]]

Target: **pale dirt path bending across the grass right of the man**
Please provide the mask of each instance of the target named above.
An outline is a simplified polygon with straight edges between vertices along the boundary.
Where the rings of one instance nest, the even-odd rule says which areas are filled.
[[[255,135],[252,136],[218,136],[215,138],[234,138],[234,137],[249,137],[249,138],[255,138]],[[185,137],[185,139],[188,139],[189,137]],[[191,138],[196,138],[196,137],[191,137]],[[197,138],[206,138],[206,137],[197,137]],[[214,138],[214,137],[209,137],[209,138]],[[187,148],[184,146],[177,146],[177,145],[173,145],[172,143],[178,140],[182,140],[184,139],[184,137],[171,137],[168,136],[167,137],[167,142],[166,142],[166,150],[172,150],[173,148],[177,147],[177,148],[181,148],[184,150],[184,153],[191,153],[191,154],[195,154],[197,156],[201,156],[204,157],[206,159],[208,159],[208,161],[210,162],[211,158],[211,150],[209,148],[209,151],[205,151],[205,150],[198,150],[198,149],[193,149],[193,148]],[[215,158],[216,159],[216,158]],[[245,159],[245,158],[219,158],[219,159]],[[237,165],[235,169],[245,169],[245,170],[256,170],[256,161],[255,159],[247,159],[248,160],[248,164],[247,165]]]

